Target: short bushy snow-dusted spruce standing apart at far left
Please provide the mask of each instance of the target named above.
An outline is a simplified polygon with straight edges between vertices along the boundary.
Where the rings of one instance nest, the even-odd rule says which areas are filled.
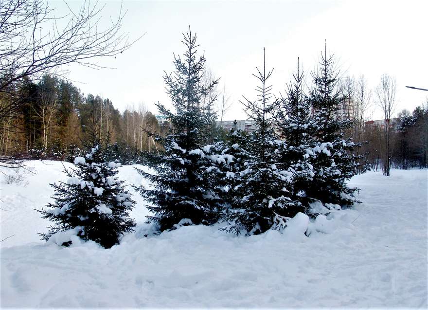
[[[118,181],[118,163],[104,163],[104,151],[91,147],[85,157],[76,157],[76,169],[65,169],[68,181],[51,184],[55,193],[49,209],[36,210],[55,223],[43,240],[69,246],[73,240],[93,240],[105,248],[119,243],[122,234],[135,226],[129,211],[135,201]]]

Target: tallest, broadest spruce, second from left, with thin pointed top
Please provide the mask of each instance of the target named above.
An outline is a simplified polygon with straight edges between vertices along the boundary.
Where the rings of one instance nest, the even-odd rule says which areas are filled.
[[[137,189],[152,203],[147,208],[154,215],[148,219],[158,223],[160,231],[183,223],[213,224],[219,219],[223,188],[215,166],[228,160],[221,154],[214,156],[215,144],[206,146],[215,118],[212,106],[216,97],[209,96],[204,104],[202,98],[218,80],[203,85],[205,57],[196,55],[196,35],[192,35],[190,27],[183,36],[183,59],[175,56],[174,74],[164,76],[175,111],[157,105],[171,125],[166,136],[153,134],[164,150],[146,153],[147,163],[156,174],[139,170],[153,185],[152,189]]]

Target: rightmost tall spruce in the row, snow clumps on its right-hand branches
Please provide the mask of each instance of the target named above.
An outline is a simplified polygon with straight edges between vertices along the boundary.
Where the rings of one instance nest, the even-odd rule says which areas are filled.
[[[322,203],[351,206],[357,199],[357,188],[348,187],[345,183],[355,175],[358,159],[353,150],[360,144],[352,138],[344,138],[345,131],[351,128],[350,119],[341,119],[340,107],[346,95],[340,89],[339,72],[334,68],[333,56],[327,56],[326,48],[321,53],[320,69],[312,73],[313,89],[309,100],[313,108],[315,139],[313,156],[310,163],[315,175],[313,182],[307,183],[305,189],[308,197]]]

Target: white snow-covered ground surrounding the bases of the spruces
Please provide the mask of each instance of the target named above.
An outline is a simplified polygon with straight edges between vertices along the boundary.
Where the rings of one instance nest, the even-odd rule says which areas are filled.
[[[427,170],[356,176],[363,203],[310,224],[310,237],[218,226],[143,237],[147,211],[135,196],[137,232],[104,250],[39,240],[50,223],[33,208],[66,177],[59,162],[28,167],[26,186],[0,177],[0,239],[13,235],[0,242],[3,308],[427,308]],[[145,182],[131,166],[119,178]]]

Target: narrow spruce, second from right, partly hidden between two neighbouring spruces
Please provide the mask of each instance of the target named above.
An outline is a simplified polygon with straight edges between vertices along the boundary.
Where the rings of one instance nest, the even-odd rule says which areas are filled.
[[[281,149],[281,164],[278,167],[292,172],[291,199],[305,211],[312,202],[305,189],[312,182],[314,172],[310,164],[315,140],[310,134],[314,132],[314,122],[310,116],[311,104],[303,90],[304,74],[297,60],[297,71],[293,80],[286,87],[286,96],[280,99],[276,113],[276,126],[285,141],[286,147]],[[303,210],[302,210],[303,209]],[[298,210],[298,208],[296,208]]]

